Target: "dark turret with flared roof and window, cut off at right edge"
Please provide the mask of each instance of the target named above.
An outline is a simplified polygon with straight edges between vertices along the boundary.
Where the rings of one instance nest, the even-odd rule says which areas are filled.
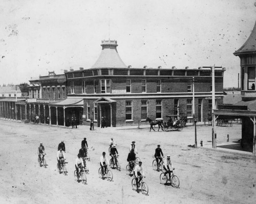
[[[233,53],[235,56],[240,57],[241,66],[241,94],[242,99],[255,100],[256,90],[256,22],[254,28],[243,44],[236,52]]]

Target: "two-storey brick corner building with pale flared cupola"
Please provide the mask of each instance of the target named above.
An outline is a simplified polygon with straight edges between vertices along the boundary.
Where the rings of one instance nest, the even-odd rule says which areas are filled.
[[[117,41],[103,40],[101,46],[92,68],[65,70],[66,100],[83,101],[83,111],[78,113],[83,124],[89,125],[92,118],[100,127],[101,117],[105,117],[107,126],[138,125],[146,124],[147,117],[166,121],[167,115],[192,118],[193,113],[198,121],[207,119],[212,108],[210,68],[133,68],[121,60]],[[223,103],[224,71],[215,70],[217,104]]]

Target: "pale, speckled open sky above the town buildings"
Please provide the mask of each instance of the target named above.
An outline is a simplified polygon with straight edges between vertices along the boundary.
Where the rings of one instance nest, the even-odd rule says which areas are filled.
[[[1,0],[0,85],[91,68],[101,40],[117,40],[128,66],[223,66],[238,87],[240,59],[255,0]]]

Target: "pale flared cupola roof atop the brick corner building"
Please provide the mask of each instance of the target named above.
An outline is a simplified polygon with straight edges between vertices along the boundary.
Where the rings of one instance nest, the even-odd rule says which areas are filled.
[[[127,68],[117,52],[116,40],[102,40],[102,50],[92,68]]]

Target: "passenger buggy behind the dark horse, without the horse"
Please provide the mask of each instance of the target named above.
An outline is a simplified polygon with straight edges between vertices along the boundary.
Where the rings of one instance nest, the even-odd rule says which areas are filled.
[[[164,131],[182,131],[186,126],[186,117],[182,119],[179,115],[166,115],[166,117],[168,117],[168,121],[163,123]]]

